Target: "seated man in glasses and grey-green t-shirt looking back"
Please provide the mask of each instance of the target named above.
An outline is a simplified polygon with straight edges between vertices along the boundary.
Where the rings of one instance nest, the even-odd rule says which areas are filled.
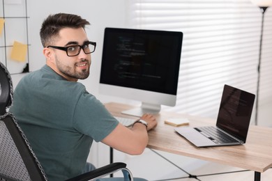
[[[93,140],[139,155],[148,143],[147,131],[156,118],[145,114],[131,129],[121,125],[78,79],[89,77],[89,25],[77,15],[59,13],[45,19],[40,29],[46,65],[22,78],[10,108],[31,143],[49,180],[82,174]]]

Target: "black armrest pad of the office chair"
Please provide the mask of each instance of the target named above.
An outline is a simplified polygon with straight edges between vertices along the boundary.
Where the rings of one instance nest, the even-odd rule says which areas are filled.
[[[94,178],[98,178],[102,175],[109,175],[111,173],[114,173],[116,171],[121,170],[122,168],[126,168],[125,163],[116,162],[112,164],[108,164],[106,166],[102,166],[100,168],[96,168],[96,170],[89,171],[87,173],[83,173],[82,175],[78,175],[75,178],[71,178],[66,181],[85,181],[85,180],[91,180]]]

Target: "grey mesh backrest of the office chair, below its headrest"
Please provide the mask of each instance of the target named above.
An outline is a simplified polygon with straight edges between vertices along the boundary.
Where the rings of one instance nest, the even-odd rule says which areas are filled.
[[[22,129],[11,113],[0,116],[0,178],[47,180]]]

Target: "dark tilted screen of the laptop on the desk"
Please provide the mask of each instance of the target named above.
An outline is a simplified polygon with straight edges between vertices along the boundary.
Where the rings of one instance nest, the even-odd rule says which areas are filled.
[[[225,85],[216,126],[245,143],[255,95]]]

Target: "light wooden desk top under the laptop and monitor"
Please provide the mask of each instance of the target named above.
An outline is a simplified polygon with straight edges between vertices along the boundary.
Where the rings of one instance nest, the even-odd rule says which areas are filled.
[[[126,104],[107,103],[105,107],[114,116],[131,117],[121,111],[134,108]],[[243,145],[197,148],[166,125],[166,118],[188,118],[190,126],[215,125],[216,120],[161,111],[157,115],[158,126],[149,131],[148,148],[194,157],[218,164],[227,164],[257,172],[272,167],[272,128],[250,125],[248,138]]]

